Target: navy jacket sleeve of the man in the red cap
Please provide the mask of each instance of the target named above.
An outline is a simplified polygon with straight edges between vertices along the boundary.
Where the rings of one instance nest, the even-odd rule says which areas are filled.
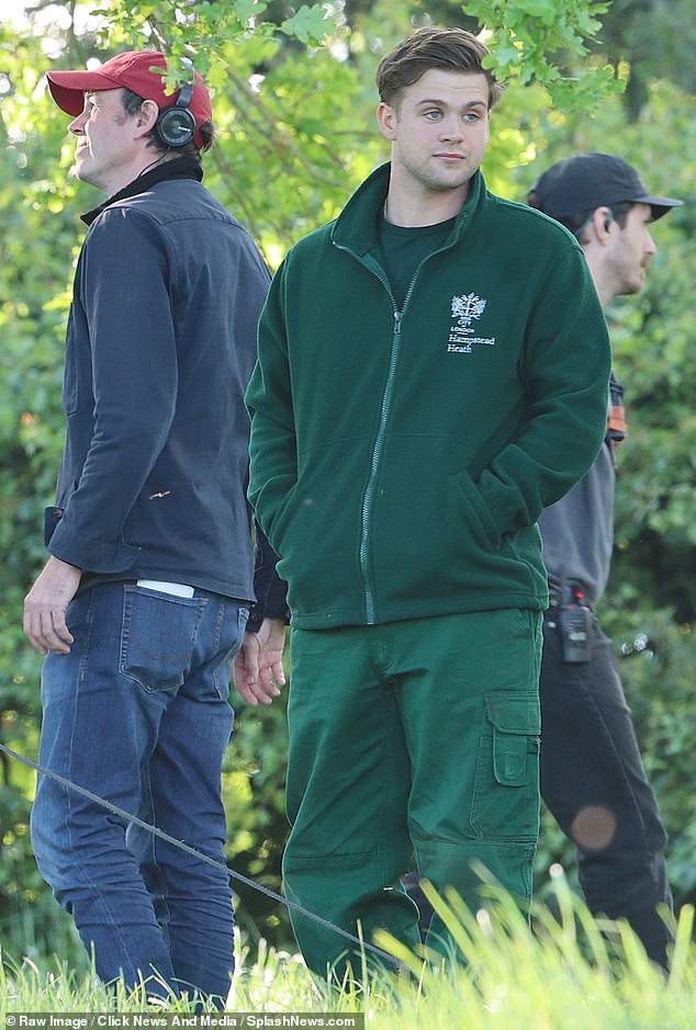
[[[177,347],[168,259],[150,219],[111,210],[85,244],[76,302],[89,326],[93,433],[48,550],[98,573],[133,566],[123,527],[173,419]]]

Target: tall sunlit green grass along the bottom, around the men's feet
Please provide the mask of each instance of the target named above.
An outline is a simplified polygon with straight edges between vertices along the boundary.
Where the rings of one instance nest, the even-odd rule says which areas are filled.
[[[239,943],[228,999],[237,1012],[362,1012],[374,1030],[695,1030],[694,909],[676,925],[670,976],[652,965],[627,926],[600,926],[559,884],[554,910],[536,906],[534,932],[505,897],[491,915],[473,916],[457,901],[434,898],[463,963],[442,970],[386,936],[380,947],[404,964],[401,976],[374,974],[364,988],[329,989],[298,955],[263,942],[252,955]],[[146,1006],[124,993],[115,1001],[93,976],[76,978],[58,960],[40,967],[5,958],[0,966],[0,1018],[31,1012],[135,1012]],[[191,1012],[187,1001],[170,1010]]]

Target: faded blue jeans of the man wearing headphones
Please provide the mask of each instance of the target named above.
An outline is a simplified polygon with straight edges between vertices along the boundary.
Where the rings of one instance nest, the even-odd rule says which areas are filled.
[[[232,657],[248,609],[113,582],[71,602],[68,655],[42,676],[40,762],[225,862],[221,770],[232,733]],[[224,999],[234,967],[229,879],[41,776],[40,871],[75,919],[99,976]],[[155,978],[156,974],[156,978]]]

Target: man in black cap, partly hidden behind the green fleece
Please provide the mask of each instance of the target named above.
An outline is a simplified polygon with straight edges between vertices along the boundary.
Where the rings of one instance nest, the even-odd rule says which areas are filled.
[[[630,165],[608,154],[580,154],[553,165],[528,202],[576,236],[605,307],[640,292],[656,252],[650,226],[682,204],[650,194]],[[540,680],[541,794],[577,848],[591,910],[627,919],[648,955],[666,967],[666,834],[614,646],[595,615],[609,577],[615,450],[626,433],[614,375],[608,411],[594,466],[539,520],[551,596]]]

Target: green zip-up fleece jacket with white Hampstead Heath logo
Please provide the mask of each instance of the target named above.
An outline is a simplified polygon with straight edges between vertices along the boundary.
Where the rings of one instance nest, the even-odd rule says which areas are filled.
[[[389,166],[288,253],[247,393],[249,497],[293,625],[548,603],[537,519],[595,460],[609,341],[582,250],[476,173],[397,310]]]

